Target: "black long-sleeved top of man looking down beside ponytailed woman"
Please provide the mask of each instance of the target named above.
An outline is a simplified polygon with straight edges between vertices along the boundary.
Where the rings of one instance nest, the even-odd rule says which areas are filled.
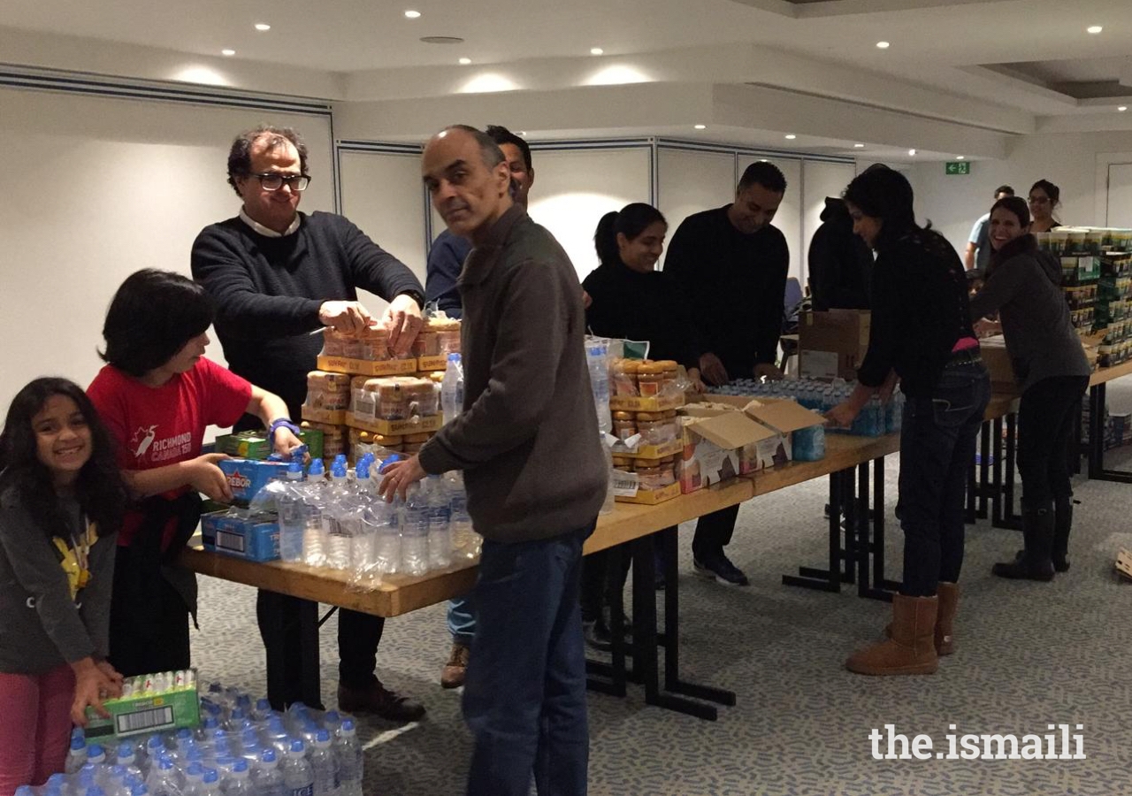
[[[664,274],[691,308],[703,352],[740,378],[778,357],[790,250],[774,226],[739,232],[728,207],[684,220],[668,246]]]

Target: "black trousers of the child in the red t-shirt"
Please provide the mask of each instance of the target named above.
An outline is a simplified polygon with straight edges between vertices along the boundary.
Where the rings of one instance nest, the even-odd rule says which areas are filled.
[[[136,549],[118,548],[110,600],[110,662],[126,677],[187,669],[189,608],[169,581],[149,572],[140,559]]]

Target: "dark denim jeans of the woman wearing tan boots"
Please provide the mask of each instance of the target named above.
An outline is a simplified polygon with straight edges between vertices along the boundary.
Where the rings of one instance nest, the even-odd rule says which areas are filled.
[[[931,597],[954,583],[963,564],[963,507],[975,442],[990,399],[978,360],[949,365],[929,396],[909,396],[900,429],[904,580],[900,591]]]

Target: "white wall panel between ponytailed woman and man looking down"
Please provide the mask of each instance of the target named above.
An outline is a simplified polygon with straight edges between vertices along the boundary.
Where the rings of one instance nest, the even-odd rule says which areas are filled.
[[[721,207],[735,198],[735,153],[688,148],[679,144],[658,146],[658,207],[668,220],[671,240],[680,222],[694,213]],[[663,268],[661,258],[657,264]]]

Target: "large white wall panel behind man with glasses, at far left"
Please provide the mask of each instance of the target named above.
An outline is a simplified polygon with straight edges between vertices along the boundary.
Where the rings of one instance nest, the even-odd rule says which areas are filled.
[[[9,202],[0,213],[0,313],[9,345],[0,408],[29,379],[86,385],[101,361],[102,322],[118,285],[145,267],[189,273],[192,240],[235,215],[225,182],[233,137],[258,123],[299,128],[314,180],[303,209],[334,208],[326,106],[214,95],[185,102],[87,79],[78,91],[0,86],[0,152]],[[183,96],[188,92],[180,92]],[[209,356],[223,361],[220,345]]]

